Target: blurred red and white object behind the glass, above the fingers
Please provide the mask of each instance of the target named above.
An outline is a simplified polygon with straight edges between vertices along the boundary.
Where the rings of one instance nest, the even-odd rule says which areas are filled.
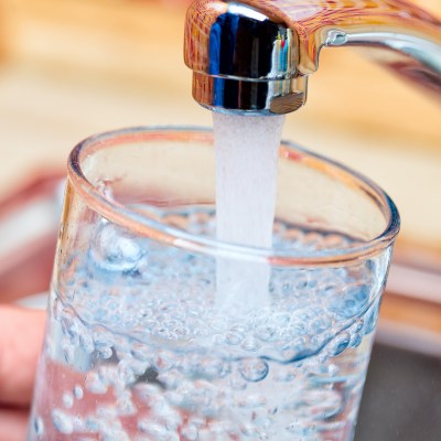
[[[49,289],[62,173],[42,173],[0,201],[0,302]]]

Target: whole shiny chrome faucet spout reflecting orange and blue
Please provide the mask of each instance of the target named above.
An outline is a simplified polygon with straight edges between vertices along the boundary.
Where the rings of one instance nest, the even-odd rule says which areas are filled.
[[[196,0],[184,58],[202,106],[280,115],[304,105],[320,51],[349,45],[441,94],[441,23],[405,0]]]

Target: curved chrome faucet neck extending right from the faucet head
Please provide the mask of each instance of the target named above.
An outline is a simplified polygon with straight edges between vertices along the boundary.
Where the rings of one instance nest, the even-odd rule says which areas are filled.
[[[409,56],[416,55],[410,45],[413,49],[424,46],[424,52],[437,53],[433,67],[441,72],[441,22],[405,0],[240,1],[295,31],[299,36],[298,69],[303,75],[318,69],[323,46],[343,45],[404,50]]]

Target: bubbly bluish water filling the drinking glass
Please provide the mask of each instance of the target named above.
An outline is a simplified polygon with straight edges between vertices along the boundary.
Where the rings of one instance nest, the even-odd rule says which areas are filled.
[[[214,233],[207,211],[164,220]],[[282,223],[275,230],[278,248],[326,252],[351,243]],[[54,284],[53,322],[62,334],[55,358],[83,375],[61,394],[63,409],[52,410],[58,433],[283,441],[321,432],[338,439],[345,412],[353,423],[348,407],[365,376],[381,262],[275,267],[268,304],[226,314],[216,301],[214,258],[105,220],[93,237]],[[90,401],[97,406],[77,415]]]

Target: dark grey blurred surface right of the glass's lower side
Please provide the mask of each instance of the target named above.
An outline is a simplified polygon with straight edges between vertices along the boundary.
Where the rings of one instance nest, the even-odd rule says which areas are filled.
[[[440,441],[441,359],[375,345],[355,441]]]

